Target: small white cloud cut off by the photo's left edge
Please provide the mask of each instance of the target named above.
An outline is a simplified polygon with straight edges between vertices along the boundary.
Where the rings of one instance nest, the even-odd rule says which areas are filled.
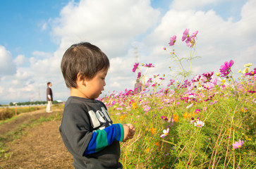
[[[13,75],[16,73],[16,65],[13,63],[11,52],[0,45],[0,75]]]

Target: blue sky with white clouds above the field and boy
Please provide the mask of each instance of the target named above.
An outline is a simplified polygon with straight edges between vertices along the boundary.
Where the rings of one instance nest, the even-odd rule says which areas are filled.
[[[165,74],[167,84],[179,70],[169,52],[190,55],[181,41],[185,29],[190,35],[198,30],[193,75],[217,73],[231,59],[238,75],[246,63],[256,67],[255,8],[256,0],[0,1],[0,104],[45,101],[47,82],[54,100],[66,101],[61,58],[79,42],[95,44],[109,57],[103,95],[133,89],[135,62],[154,65],[140,68],[145,80]],[[173,35],[176,44],[169,46]]]

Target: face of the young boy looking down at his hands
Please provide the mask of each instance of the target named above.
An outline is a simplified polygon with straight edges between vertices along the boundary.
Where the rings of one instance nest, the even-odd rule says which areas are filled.
[[[91,80],[85,80],[85,88],[83,94],[87,99],[97,99],[99,94],[102,94],[104,86],[106,85],[105,77],[108,69],[99,70],[95,77]]]

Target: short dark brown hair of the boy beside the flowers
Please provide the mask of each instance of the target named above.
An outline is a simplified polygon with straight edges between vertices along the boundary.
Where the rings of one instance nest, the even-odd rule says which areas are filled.
[[[77,75],[91,80],[99,70],[109,68],[109,58],[97,46],[81,42],[70,46],[61,61],[61,71],[68,88],[77,87]]]

